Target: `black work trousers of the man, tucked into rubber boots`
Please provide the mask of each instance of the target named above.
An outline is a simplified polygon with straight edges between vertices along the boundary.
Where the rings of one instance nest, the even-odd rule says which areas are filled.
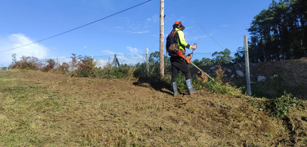
[[[178,77],[178,71],[180,70],[187,79],[191,79],[190,67],[187,61],[183,60],[180,56],[171,56],[171,82],[176,82]]]

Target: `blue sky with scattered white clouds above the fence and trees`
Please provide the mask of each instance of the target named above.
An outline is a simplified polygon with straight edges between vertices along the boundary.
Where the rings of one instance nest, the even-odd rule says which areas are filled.
[[[0,0],[0,51],[3,51],[0,66],[8,66],[13,53],[18,59],[22,55],[49,59],[70,57],[71,53],[104,56],[145,54],[146,48],[150,53],[159,51],[160,0],[146,1]],[[164,1],[163,46],[173,23],[181,21],[186,42],[197,43],[195,52],[212,53],[225,48],[236,52],[243,47],[243,36],[249,38],[246,29],[253,17],[272,3],[271,0],[175,1]],[[143,2],[146,3],[108,17]],[[100,20],[104,17],[108,18]],[[91,22],[95,23],[81,27]],[[81,28],[67,32],[77,27]],[[52,37],[58,34],[61,35]],[[43,41],[20,47],[40,40]],[[20,48],[10,50],[15,47]]]

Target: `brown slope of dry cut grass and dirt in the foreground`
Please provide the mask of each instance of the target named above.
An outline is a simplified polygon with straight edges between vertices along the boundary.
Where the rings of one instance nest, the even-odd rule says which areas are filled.
[[[0,145],[4,146],[14,146],[3,139],[14,135],[12,131],[21,132],[20,138],[28,132],[36,140],[17,144],[21,146],[307,146],[306,106],[275,119],[253,106],[261,99],[241,94],[200,91],[172,97],[169,89],[155,90],[136,81],[31,70],[0,71],[1,79],[40,89],[14,99],[10,86],[1,87]],[[12,114],[12,107],[21,105],[18,100],[33,100],[27,107],[31,113],[18,109]],[[44,102],[43,107],[36,101]],[[22,118],[36,122],[34,133],[21,130]]]

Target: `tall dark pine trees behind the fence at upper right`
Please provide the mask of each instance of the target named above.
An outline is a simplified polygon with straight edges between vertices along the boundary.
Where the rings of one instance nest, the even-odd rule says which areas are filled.
[[[306,56],[306,16],[307,0],[272,0],[268,9],[254,17],[248,29],[250,61],[283,61]],[[242,51],[241,48],[238,53]]]

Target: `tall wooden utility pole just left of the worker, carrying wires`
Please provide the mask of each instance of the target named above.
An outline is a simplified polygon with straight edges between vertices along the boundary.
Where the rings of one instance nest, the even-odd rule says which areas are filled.
[[[160,74],[164,76],[164,0],[160,0]]]

